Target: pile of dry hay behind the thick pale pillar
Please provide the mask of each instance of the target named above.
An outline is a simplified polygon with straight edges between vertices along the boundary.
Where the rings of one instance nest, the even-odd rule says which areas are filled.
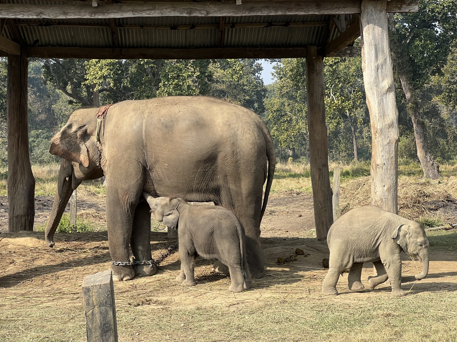
[[[398,183],[399,215],[417,220],[423,216],[438,214],[443,220],[457,217],[452,207],[457,207],[457,179],[423,181],[400,177]],[[371,177],[360,177],[341,184],[340,211],[371,204]],[[446,207],[447,210],[442,211]],[[451,210],[450,210],[451,209]]]

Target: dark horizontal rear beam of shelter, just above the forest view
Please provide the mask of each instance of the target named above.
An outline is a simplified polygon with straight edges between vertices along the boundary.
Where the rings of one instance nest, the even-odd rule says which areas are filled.
[[[299,58],[306,47],[212,47],[202,49],[109,49],[96,47],[28,47],[29,57],[96,59]]]

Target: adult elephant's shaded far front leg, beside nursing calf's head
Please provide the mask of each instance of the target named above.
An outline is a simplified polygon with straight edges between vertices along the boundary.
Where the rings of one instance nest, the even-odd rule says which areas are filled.
[[[133,257],[136,262],[150,261],[151,257],[151,213],[146,202],[138,202],[133,215],[132,247]],[[154,275],[157,268],[154,264],[134,264],[135,275]]]

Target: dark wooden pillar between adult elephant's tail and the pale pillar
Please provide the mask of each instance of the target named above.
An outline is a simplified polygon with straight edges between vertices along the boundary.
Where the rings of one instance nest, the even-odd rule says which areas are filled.
[[[332,190],[329,176],[329,143],[325,126],[324,61],[315,46],[306,57],[306,97],[308,101],[309,155],[313,187],[316,237],[327,238],[333,223]]]

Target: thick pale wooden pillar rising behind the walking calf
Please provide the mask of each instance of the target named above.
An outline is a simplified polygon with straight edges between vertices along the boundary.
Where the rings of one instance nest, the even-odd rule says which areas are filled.
[[[386,9],[387,0],[362,0],[362,70],[372,130],[372,205],[398,213],[399,114]]]

